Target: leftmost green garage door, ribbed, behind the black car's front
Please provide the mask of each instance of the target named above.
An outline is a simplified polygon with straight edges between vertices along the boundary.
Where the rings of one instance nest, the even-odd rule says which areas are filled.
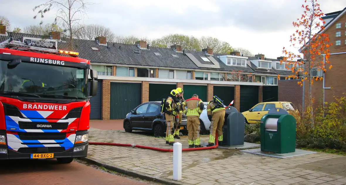
[[[110,119],[124,119],[142,103],[142,83],[110,82]]]

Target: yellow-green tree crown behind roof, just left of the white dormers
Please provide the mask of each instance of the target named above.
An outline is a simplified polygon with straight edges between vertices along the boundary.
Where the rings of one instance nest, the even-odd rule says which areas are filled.
[[[199,39],[200,47],[212,48],[214,53],[228,54],[233,51],[232,47],[228,42],[222,42],[218,38],[204,37]]]

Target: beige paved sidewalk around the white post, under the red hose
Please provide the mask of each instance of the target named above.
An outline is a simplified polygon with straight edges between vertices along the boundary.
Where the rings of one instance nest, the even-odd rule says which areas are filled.
[[[90,141],[172,148],[165,144],[164,138],[136,133],[90,129]],[[181,142],[183,148],[188,148],[186,136],[175,141]],[[201,142],[207,141],[208,135],[202,135]],[[173,153],[90,145],[89,156],[108,165],[169,180],[173,178]],[[182,154],[182,177],[181,182],[198,185],[340,185],[346,184],[346,157],[318,152],[279,159],[236,149],[190,151]]]

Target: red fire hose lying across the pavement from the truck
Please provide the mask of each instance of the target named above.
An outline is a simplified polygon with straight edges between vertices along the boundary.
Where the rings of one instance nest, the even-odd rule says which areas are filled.
[[[217,132],[215,135],[215,138],[217,138]],[[91,145],[110,145],[110,146],[118,146],[118,147],[137,147],[137,148],[143,148],[148,150],[156,150],[161,152],[173,152],[173,149],[166,149],[166,148],[156,148],[156,147],[148,147],[148,146],[142,146],[137,144],[122,144],[122,143],[104,143],[104,142],[89,142]],[[200,148],[183,148],[182,151],[195,151],[195,150],[209,150],[209,149],[215,149],[219,146],[218,140],[215,139],[215,145],[211,147],[200,147]]]

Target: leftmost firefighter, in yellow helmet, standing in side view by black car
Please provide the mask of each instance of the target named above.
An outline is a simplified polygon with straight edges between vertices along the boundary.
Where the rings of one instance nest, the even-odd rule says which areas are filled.
[[[165,118],[166,118],[166,124],[167,124],[166,144],[169,144],[171,146],[173,146],[174,144],[173,134],[174,134],[175,116],[179,112],[176,106],[176,103],[178,102],[178,98],[177,98],[178,95],[179,95],[179,91],[177,91],[176,89],[173,89],[165,103],[165,106],[166,106]]]

